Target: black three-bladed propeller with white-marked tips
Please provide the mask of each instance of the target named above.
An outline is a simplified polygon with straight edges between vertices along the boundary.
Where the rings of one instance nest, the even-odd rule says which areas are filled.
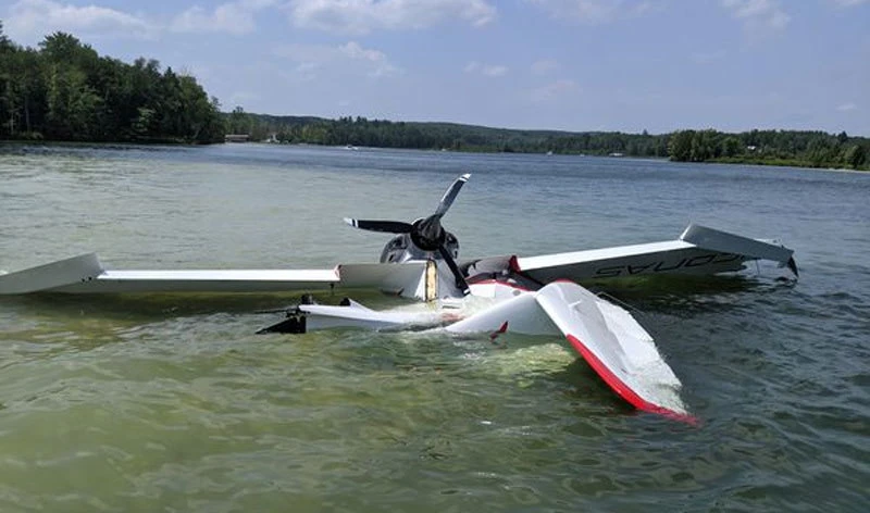
[[[450,272],[453,273],[453,276],[456,277],[456,286],[462,290],[462,293],[468,295],[470,289],[468,283],[465,283],[465,277],[462,275],[462,272],[459,270],[459,265],[457,265],[456,261],[453,260],[453,255],[450,254],[450,251],[445,246],[447,241],[447,232],[442,226],[442,217],[444,217],[444,214],[446,214],[450,209],[450,205],[453,204],[456,197],[459,195],[462,186],[465,185],[465,182],[468,182],[470,177],[471,174],[467,173],[450,184],[450,187],[447,188],[447,191],[438,202],[438,207],[435,208],[435,213],[428,217],[417,220],[413,223],[403,223],[401,221],[355,220],[346,217],[345,223],[353,226],[355,228],[365,229],[369,232],[409,234],[414,246],[423,251],[438,251],[438,253],[442,255],[442,259],[444,259],[444,261],[447,263],[447,266],[450,267]]]

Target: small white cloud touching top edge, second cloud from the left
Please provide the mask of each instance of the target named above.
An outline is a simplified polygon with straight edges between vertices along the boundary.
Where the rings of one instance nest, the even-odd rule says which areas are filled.
[[[257,28],[253,15],[275,0],[240,0],[222,3],[209,12],[199,5],[175,16],[170,29],[177,33],[227,33],[249,34]]]

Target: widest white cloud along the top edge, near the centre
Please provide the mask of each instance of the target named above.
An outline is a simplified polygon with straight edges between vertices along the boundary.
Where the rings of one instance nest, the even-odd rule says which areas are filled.
[[[362,35],[378,29],[417,29],[455,18],[482,26],[496,16],[488,0],[290,0],[298,27]]]

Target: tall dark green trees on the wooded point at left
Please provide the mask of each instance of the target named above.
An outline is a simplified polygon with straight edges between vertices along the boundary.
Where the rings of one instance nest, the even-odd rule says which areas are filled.
[[[60,32],[24,48],[0,23],[0,139],[216,142],[224,132],[217,100],[190,75],[100,57]]]

